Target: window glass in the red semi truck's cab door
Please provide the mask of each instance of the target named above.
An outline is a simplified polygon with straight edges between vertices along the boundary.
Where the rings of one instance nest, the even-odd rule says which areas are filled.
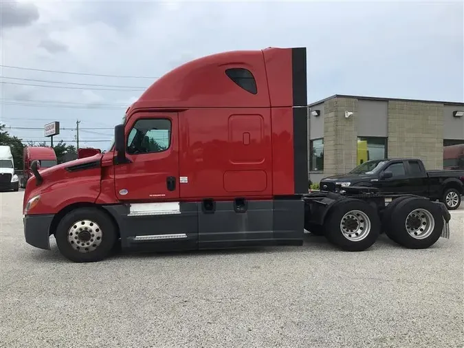
[[[127,137],[127,153],[157,153],[170,146],[171,122],[162,118],[143,118],[135,122]]]

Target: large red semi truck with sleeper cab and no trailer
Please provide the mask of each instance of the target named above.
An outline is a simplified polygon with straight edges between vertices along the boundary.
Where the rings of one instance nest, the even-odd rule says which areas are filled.
[[[159,78],[115,126],[109,151],[27,182],[25,241],[75,262],[123,250],[301,246],[342,250],[381,232],[407,248],[449,238],[441,203],[374,188],[308,193],[306,49],[213,54]],[[344,119],[343,119],[344,120]],[[347,120],[346,122],[351,122]]]

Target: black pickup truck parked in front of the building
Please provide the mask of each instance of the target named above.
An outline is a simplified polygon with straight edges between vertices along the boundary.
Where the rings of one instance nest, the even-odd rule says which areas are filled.
[[[371,186],[381,193],[428,197],[454,210],[459,208],[464,195],[464,171],[426,171],[418,158],[394,158],[367,161],[347,174],[320,181],[322,192],[335,192],[347,186]]]

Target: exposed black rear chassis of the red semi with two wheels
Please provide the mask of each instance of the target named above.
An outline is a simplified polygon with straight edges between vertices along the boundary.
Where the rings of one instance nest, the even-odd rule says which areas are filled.
[[[324,235],[343,250],[366,250],[381,233],[401,246],[423,249],[450,238],[445,204],[416,195],[388,195],[376,188],[338,186],[305,200],[305,230]]]

